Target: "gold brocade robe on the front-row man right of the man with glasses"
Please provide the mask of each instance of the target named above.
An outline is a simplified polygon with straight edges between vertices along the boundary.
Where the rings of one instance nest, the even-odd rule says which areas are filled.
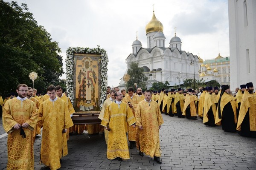
[[[137,131],[137,149],[151,158],[161,156],[159,126],[163,124],[163,117],[157,102],[151,100],[150,106],[145,100],[140,102],[135,117],[136,125],[143,127]]]

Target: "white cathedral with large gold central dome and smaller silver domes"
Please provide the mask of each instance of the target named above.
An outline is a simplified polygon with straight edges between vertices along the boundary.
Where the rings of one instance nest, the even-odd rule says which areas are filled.
[[[203,59],[192,53],[181,50],[181,40],[172,37],[166,48],[166,37],[163,34],[163,24],[157,20],[153,11],[151,21],[146,25],[148,46],[143,48],[138,38],[132,43],[132,54],[126,58],[127,74],[131,62],[138,62],[143,68],[143,74],[148,77],[146,88],[150,89],[154,82],[169,82],[170,86],[183,84],[185,79],[199,79],[198,70]],[[125,82],[120,79],[119,88],[125,88]]]

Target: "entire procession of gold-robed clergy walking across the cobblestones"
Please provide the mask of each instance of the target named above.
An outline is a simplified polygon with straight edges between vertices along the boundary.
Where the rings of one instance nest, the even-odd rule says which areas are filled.
[[[134,93],[130,87],[128,94],[125,89],[107,87],[107,99],[99,114],[101,126],[73,126],[71,117],[75,110],[61,86],[50,85],[47,94],[40,98],[35,89],[20,84],[18,96],[3,105],[3,127],[8,133],[7,170],[34,169],[33,144],[42,127],[40,163],[51,170],[61,167],[61,157],[68,153],[69,134],[84,129],[92,130],[90,133],[104,131],[110,160],[130,159],[128,133],[130,149],[137,147],[140,156],[148,155],[161,164],[161,113],[192,120],[199,116],[205,125],[222,125],[224,131],[238,130],[241,136],[256,138],[256,92],[253,93],[252,82],[240,87],[235,97],[228,85],[222,85],[220,91],[207,87],[200,92],[181,88],[143,92],[138,88]]]

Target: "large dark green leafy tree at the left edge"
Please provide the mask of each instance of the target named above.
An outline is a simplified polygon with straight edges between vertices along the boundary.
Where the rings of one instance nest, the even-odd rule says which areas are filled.
[[[64,73],[61,49],[43,26],[38,26],[26,4],[0,0],[0,92],[20,83],[32,86],[29,73],[38,74],[34,87],[45,91]],[[12,90],[13,91],[13,90]]]

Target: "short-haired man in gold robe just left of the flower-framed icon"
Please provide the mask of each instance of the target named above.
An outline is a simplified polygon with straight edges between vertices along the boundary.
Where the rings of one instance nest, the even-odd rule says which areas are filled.
[[[56,94],[59,98],[61,98],[62,100],[64,100],[64,102],[67,105],[68,111],[70,113],[70,116],[73,116],[73,113],[75,113],[75,109],[73,108],[73,105],[70,101],[70,98],[68,98],[65,93],[63,93],[63,89],[60,85],[56,86]],[[72,133],[74,131],[73,126],[67,129],[67,133],[66,133],[66,137],[67,137],[67,141],[69,140],[69,133]]]

